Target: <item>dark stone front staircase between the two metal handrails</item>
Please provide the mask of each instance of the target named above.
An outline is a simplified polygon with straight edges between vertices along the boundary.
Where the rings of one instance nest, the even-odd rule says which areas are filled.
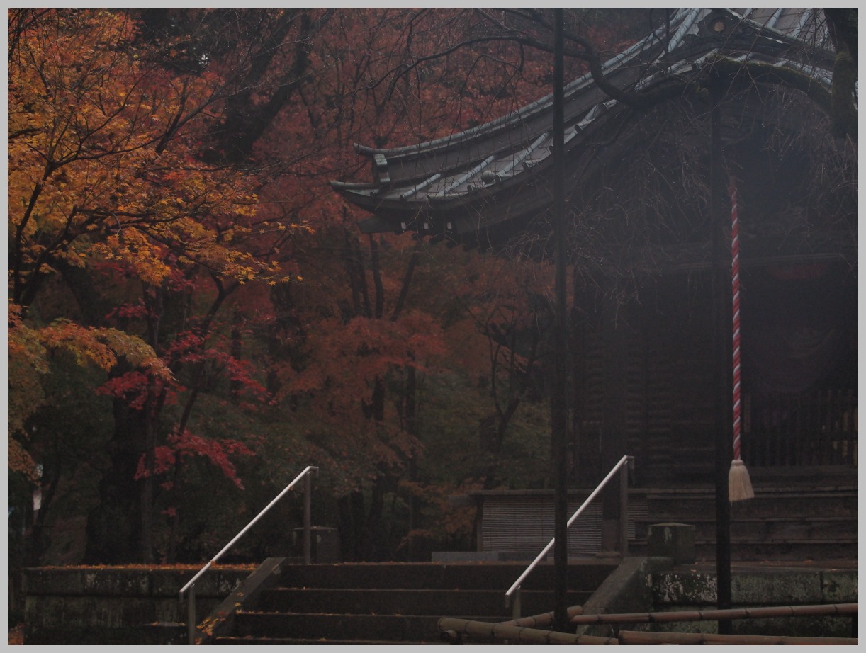
[[[267,582],[258,589],[242,586],[229,596],[213,613],[223,617],[206,622],[210,637],[204,643],[441,643],[441,617],[510,619],[504,594],[527,563],[305,566],[269,559],[263,567]],[[610,560],[570,564],[569,605],[582,605],[616,568],[617,561]],[[553,611],[553,571],[553,564],[544,562],[527,579],[521,595],[523,615]]]

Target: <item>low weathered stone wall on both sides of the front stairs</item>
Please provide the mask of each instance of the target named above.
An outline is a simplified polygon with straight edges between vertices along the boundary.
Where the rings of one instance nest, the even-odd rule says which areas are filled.
[[[703,611],[715,609],[715,573],[671,560],[627,559],[585,605],[585,612]],[[663,567],[663,568],[662,568]],[[178,591],[197,569],[48,567],[24,574],[25,644],[186,643],[186,603]],[[253,573],[218,567],[197,584],[197,623]],[[857,602],[857,570],[760,568],[736,570],[734,607]],[[735,620],[734,633],[851,637],[850,617]],[[600,626],[582,628],[599,634]],[[605,636],[611,627],[604,626]],[[624,624],[618,630],[716,632],[714,621]]]

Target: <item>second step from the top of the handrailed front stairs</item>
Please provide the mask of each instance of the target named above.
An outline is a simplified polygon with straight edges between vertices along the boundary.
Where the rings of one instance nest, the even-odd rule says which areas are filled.
[[[514,582],[514,581],[512,581]],[[509,585],[510,586],[510,585]],[[262,612],[319,612],[346,614],[443,614],[446,609],[458,615],[483,615],[510,618],[505,606],[507,586],[498,590],[426,590],[426,589],[339,589],[288,588],[264,590],[256,607]],[[568,592],[569,605],[582,605],[591,589]],[[553,610],[553,590],[521,590],[520,602],[525,614]],[[447,608],[445,607],[447,606]]]

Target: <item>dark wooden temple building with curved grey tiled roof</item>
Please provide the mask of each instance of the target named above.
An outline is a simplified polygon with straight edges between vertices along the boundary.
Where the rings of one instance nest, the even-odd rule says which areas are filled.
[[[713,372],[713,278],[722,264],[730,277],[734,214],[742,458],[753,473],[856,467],[857,155],[832,131],[835,57],[822,10],[683,9],[603,80],[565,86],[581,486],[625,454],[639,483],[712,478],[729,391]],[[356,150],[372,181],[332,185],[372,214],[362,232],[552,255],[553,95]]]

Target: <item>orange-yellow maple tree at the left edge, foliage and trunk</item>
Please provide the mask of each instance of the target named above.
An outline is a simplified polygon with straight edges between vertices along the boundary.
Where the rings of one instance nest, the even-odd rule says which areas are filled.
[[[126,478],[132,458],[152,468],[160,413],[182,388],[179,368],[202,355],[232,288],[280,278],[244,245],[255,176],[203,163],[219,81],[165,67],[155,48],[138,45],[139,24],[126,12],[12,10],[10,32],[10,343],[35,343],[20,350],[36,373],[59,348],[107,373],[102,390],[124,407],[113,439],[128,453],[114,456],[120,473],[106,474],[113,488],[104,499],[139,496],[132,537],[147,560],[153,489],[147,473],[140,489]],[[58,285],[71,291],[73,319],[53,314],[69,307],[43,301]],[[203,289],[212,299],[202,317],[178,324],[168,336],[177,343],[166,340],[167,304]],[[17,433],[10,447],[26,453]],[[15,461],[29,471],[26,456]]]

